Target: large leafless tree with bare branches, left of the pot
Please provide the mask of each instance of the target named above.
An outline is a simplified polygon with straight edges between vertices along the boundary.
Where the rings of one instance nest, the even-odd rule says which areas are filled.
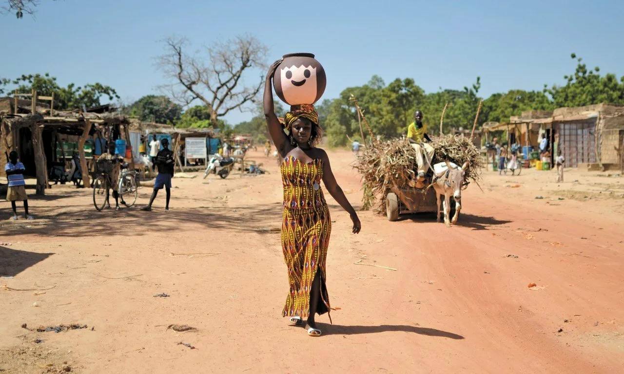
[[[170,37],[164,41],[165,54],[158,67],[172,80],[165,89],[182,105],[200,100],[210,110],[210,121],[217,122],[234,109],[246,110],[255,103],[264,82],[245,84],[251,70],[265,67],[266,46],[253,36],[238,36],[207,48],[207,59],[186,52],[187,39]],[[255,80],[255,79],[254,79]]]

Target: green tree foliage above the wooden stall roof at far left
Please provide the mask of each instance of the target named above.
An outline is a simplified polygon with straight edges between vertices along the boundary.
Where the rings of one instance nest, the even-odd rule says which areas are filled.
[[[109,100],[119,99],[117,92],[110,86],[100,83],[85,84],[76,86],[68,84],[61,87],[56,81],[56,77],[50,74],[29,74],[21,75],[13,80],[2,79],[0,81],[0,93],[17,89],[18,92],[30,93],[32,89],[37,90],[38,95],[51,96],[54,93],[54,108],[57,110],[67,110],[97,107],[102,105],[100,101],[103,97]]]

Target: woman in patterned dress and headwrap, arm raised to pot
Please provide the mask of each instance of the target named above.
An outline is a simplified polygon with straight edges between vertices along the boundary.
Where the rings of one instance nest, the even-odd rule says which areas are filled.
[[[331,218],[319,182],[323,180],[329,194],[351,216],[353,233],[361,224],[353,206],[329,166],[327,153],[315,145],[321,140],[318,114],[313,105],[293,105],[286,113],[285,128],[275,115],[271,77],[281,60],[274,62],[265,80],[264,109],[266,125],[281,158],[281,179],[284,188],[284,212],[281,225],[281,247],[288,267],[290,292],[282,315],[302,325],[308,335],[316,337],[314,315],[329,313],[329,294],[325,285],[325,261],[331,233]],[[331,317],[329,318],[331,322]]]

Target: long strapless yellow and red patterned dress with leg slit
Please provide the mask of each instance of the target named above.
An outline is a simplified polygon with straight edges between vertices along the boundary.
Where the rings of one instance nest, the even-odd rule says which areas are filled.
[[[331,218],[321,190],[323,160],[303,163],[289,156],[281,163],[280,171],[284,187],[281,247],[290,285],[282,316],[303,318],[310,314],[310,290],[317,271],[321,272],[322,302],[316,313],[324,314],[330,309],[325,262]]]

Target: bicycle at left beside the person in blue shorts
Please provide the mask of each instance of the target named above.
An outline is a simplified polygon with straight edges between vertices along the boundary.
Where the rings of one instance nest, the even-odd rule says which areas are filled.
[[[110,173],[112,173],[113,168],[114,164],[109,160],[97,161],[97,169],[99,171],[93,181],[93,204],[97,211],[102,211],[104,206],[109,203],[109,189],[110,186],[112,186]],[[117,193],[119,194],[121,203],[128,208],[134,206],[137,201],[137,196],[139,195],[136,176],[136,171],[128,170],[128,165],[126,163],[121,165],[119,181],[117,182]]]

